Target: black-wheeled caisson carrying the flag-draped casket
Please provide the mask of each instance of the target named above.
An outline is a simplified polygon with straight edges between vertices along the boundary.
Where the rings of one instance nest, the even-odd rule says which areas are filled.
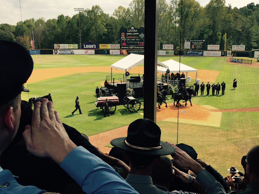
[[[119,101],[117,96],[107,96],[107,97],[100,97],[95,102],[97,108],[100,108],[105,112],[105,100],[108,99],[108,106],[109,106],[109,114],[112,114],[116,111],[118,105],[123,105],[125,108],[128,109],[131,113],[136,113],[140,109],[141,102],[135,99],[131,95],[127,95],[123,98],[122,101]]]

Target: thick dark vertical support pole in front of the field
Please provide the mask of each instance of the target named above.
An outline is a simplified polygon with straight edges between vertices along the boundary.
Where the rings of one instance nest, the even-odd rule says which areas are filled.
[[[144,118],[156,122],[158,0],[145,0],[144,27]]]

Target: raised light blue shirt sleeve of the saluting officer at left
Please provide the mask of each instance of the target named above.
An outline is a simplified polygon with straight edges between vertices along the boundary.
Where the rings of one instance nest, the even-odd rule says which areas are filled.
[[[138,193],[111,166],[82,146],[72,150],[60,167],[88,194]]]

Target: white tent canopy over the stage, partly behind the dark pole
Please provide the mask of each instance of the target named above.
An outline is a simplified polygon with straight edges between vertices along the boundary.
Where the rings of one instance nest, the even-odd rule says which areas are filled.
[[[131,68],[138,66],[144,63],[144,55],[130,54],[119,61],[113,63],[111,68],[120,69],[124,71],[128,71]],[[163,68],[168,68],[168,66],[164,65],[160,61],[157,61],[157,66],[161,66]]]

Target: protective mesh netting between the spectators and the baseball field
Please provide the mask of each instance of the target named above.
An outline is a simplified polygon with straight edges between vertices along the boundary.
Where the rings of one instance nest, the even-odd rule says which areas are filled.
[[[111,139],[126,136],[127,126],[143,118],[141,57],[125,62],[127,67],[137,64],[131,69],[111,69],[129,54],[144,54],[143,0],[1,1],[0,10],[0,39],[23,45],[34,60],[26,83],[30,93],[22,94],[22,100],[51,93],[62,122],[88,135],[104,152],[110,151]],[[161,140],[192,146],[198,158],[224,177],[231,166],[243,172],[242,156],[259,143],[258,49],[258,0],[160,0],[158,61],[177,62],[170,63],[176,65],[174,72],[158,68],[157,83],[168,92],[167,108],[157,105]],[[180,79],[182,73],[185,79]],[[218,82],[219,94],[212,87]],[[191,90],[191,102],[184,106],[180,100],[177,108],[174,95],[182,83],[186,89],[196,88],[198,96]],[[104,117],[96,86],[102,97],[117,93],[111,116]],[[78,110],[71,114],[76,96],[82,115]]]

